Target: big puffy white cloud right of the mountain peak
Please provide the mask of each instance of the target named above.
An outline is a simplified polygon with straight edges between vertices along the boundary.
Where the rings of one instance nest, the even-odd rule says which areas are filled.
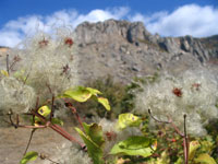
[[[157,14],[157,13],[155,13]],[[164,36],[192,35],[203,37],[218,34],[218,9],[199,7],[196,4],[183,5],[172,13],[153,14],[145,25],[152,33]],[[146,20],[147,16],[144,16]]]

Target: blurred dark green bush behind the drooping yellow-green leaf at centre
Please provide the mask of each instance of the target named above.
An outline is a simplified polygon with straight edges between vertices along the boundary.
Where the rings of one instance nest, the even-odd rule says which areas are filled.
[[[110,102],[110,112],[104,110],[104,106],[95,99],[89,99],[87,103],[74,103],[78,112],[83,112],[87,117],[98,115],[100,117],[116,118],[121,113],[130,112],[134,108],[134,94],[131,93],[135,86],[125,85],[120,82],[114,82],[111,77],[97,79],[86,83],[87,86],[97,89]]]

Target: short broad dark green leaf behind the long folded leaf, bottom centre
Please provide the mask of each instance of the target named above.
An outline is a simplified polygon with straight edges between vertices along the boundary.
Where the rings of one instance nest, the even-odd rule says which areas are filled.
[[[86,136],[90,138],[99,148],[102,148],[105,140],[102,138],[102,127],[97,124],[87,125],[83,122]]]

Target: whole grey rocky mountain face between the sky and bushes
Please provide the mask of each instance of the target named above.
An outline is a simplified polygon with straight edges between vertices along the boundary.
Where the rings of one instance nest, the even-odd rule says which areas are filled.
[[[178,73],[218,59],[218,36],[160,37],[141,22],[108,20],[83,23],[75,30],[84,81],[111,74],[130,82],[156,71]]]

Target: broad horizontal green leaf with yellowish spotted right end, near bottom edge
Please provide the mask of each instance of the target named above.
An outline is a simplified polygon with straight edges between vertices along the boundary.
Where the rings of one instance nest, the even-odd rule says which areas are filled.
[[[145,137],[134,136],[123,140],[110,151],[110,154],[124,154],[124,155],[141,155],[143,157],[150,156],[154,153],[150,139]]]

